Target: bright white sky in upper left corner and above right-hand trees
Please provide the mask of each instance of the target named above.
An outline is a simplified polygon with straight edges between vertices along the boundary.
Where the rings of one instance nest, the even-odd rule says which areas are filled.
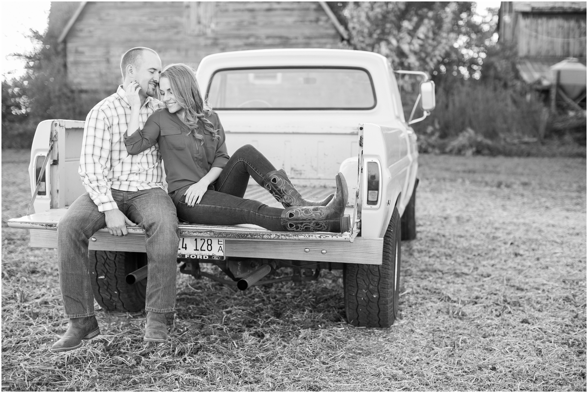
[[[476,2],[477,14],[485,15],[487,8],[498,8],[500,1]],[[2,80],[22,75],[24,61],[10,56],[18,52],[31,52],[35,45],[26,36],[29,29],[45,32],[51,1],[1,1],[2,11]]]

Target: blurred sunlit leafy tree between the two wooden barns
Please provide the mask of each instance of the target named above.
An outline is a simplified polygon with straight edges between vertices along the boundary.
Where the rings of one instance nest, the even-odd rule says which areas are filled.
[[[482,16],[468,1],[349,2],[343,15],[353,49],[377,52],[395,69],[429,72],[437,81],[482,78],[497,41],[497,10]]]

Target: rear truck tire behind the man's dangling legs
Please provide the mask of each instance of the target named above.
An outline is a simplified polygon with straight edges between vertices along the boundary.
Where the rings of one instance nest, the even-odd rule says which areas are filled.
[[[147,279],[126,284],[126,275],[147,264],[145,252],[88,252],[90,278],[96,302],[105,310],[137,312],[145,308]]]

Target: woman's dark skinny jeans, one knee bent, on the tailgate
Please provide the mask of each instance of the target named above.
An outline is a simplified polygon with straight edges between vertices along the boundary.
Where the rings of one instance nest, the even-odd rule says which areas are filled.
[[[255,224],[270,231],[284,231],[284,209],[272,208],[253,199],[243,199],[249,176],[263,186],[263,178],[276,168],[252,145],[241,146],[226,163],[214,184],[198,204],[189,207],[182,196],[176,209],[178,218],[191,224]]]

